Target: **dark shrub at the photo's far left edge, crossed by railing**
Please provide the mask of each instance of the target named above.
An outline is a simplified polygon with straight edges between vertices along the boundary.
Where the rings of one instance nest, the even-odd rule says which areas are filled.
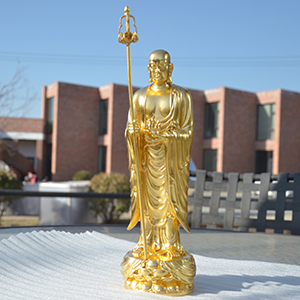
[[[0,170],[0,190],[20,190],[22,182],[16,179],[11,173]],[[13,197],[0,196],[0,225],[1,218],[5,211],[11,206]]]

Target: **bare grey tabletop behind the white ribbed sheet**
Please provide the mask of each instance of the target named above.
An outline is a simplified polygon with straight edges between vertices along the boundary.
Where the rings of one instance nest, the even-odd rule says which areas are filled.
[[[97,231],[132,242],[137,242],[140,232],[139,228],[127,231],[120,225],[0,228],[0,240],[19,232],[53,229],[71,233]],[[207,257],[300,265],[300,236],[200,229],[182,231],[181,240],[189,252]]]

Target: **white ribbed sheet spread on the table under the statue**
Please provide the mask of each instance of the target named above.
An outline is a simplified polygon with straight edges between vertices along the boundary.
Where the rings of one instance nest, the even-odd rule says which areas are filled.
[[[190,237],[200,235],[208,236]],[[120,263],[133,246],[95,231],[33,231],[2,239],[0,298],[166,299],[124,288]],[[194,257],[195,289],[188,299],[299,299],[300,266]]]

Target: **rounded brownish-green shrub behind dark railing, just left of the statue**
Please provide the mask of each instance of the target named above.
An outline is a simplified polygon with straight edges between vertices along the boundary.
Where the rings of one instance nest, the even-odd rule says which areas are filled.
[[[99,173],[90,182],[90,190],[96,193],[130,193],[128,179],[119,173]],[[121,214],[128,212],[129,199],[90,198],[89,208],[95,218],[102,217],[105,223],[114,223]]]

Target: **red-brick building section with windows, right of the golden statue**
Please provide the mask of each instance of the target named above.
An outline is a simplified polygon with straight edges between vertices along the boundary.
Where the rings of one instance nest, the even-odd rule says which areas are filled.
[[[225,173],[300,170],[299,93],[222,87],[204,95],[203,158],[197,167]]]

